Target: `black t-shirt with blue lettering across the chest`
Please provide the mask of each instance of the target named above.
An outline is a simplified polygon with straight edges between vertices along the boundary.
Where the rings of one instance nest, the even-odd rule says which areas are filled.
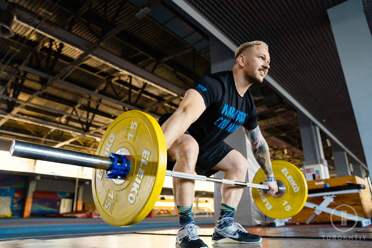
[[[240,126],[257,127],[257,109],[249,90],[241,97],[232,71],[222,71],[200,78],[192,89],[204,99],[205,111],[187,129],[199,144],[199,151],[218,145]]]

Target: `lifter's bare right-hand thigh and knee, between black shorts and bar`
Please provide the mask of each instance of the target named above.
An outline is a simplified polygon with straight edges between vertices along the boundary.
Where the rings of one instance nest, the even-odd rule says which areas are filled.
[[[212,170],[224,171],[225,173],[243,174],[247,173],[248,161],[237,150],[231,150]],[[243,176],[242,175],[242,176]]]

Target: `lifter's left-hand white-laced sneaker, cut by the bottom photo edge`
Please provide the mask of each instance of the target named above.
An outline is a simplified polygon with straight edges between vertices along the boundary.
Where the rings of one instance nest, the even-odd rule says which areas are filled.
[[[178,231],[176,238],[176,248],[208,248],[204,242],[199,239],[199,226],[189,223],[183,230]]]

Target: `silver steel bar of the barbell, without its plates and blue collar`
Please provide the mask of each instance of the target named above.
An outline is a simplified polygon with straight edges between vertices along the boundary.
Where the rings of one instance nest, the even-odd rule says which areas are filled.
[[[46,145],[33,144],[23,141],[13,141],[12,145],[10,146],[9,152],[11,156],[16,157],[56,162],[61,164],[72,164],[82,167],[90,167],[94,169],[108,170],[112,167],[112,160],[109,157],[103,157],[94,154],[87,154],[84,152],[71,151],[61,148],[54,148]],[[267,185],[237,182],[234,180],[212,178],[206,177],[205,175],[195,175],[178,171],[167,170],[166,175],[170,177],[184,178],[190,180],[209,181],[214,183],[238,185],[256,189],[269,190],[269,186]]]

